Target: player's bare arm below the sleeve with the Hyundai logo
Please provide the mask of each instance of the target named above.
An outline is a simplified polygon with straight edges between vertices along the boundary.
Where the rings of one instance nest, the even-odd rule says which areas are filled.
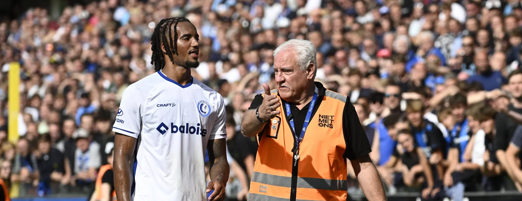
[[[131,162],[136,138],[117,133],[114,138],[114,188],[119,201],[131,201]]]

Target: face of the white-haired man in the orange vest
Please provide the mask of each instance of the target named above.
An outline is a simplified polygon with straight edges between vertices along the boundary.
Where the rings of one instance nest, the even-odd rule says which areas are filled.
[[[309,81],[313,79],[315,66],[301,70],[296,60],[295,51],[286,49],[274,57],[274,71],[279,90],[279,96],[287,101],[298,100],[306,91]]]

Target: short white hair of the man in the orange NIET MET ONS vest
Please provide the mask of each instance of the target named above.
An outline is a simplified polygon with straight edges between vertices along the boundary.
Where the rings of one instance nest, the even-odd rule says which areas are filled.
[[[314,44],[308,40],[302,39],[291,39],[286,42],[283,42],[279,45],[276,50],[274,50],[274,57],[283,50],[291,49],[295,53],[295,60],[301,67],[301,70],[305,71],[306,68],[310,66],[310,64],[314,64],[314,77],[317,74],[317,51],[315,50]]]

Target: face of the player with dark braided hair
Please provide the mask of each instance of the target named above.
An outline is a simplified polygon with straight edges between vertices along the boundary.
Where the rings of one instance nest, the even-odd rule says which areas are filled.
[[[173,62],[176,65],[185,68],[197,68],[199,62],[199,35],[196,27],[191,22],[179,22],[176,27],[177,31],[177,55],[172,55]],[[174,38],[174,32],[172,32]]]

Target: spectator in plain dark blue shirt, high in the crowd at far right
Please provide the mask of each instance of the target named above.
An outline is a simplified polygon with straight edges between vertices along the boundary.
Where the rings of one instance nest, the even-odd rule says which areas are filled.
[[[488,64],[488,53],[477,52],[474,57],[474,65],[477,68],[477,73],[468,78],[468,82],[478,81],[484,90],[492,91],[499,89],[506,83],[506,78],[501,72],[494,72]]]

